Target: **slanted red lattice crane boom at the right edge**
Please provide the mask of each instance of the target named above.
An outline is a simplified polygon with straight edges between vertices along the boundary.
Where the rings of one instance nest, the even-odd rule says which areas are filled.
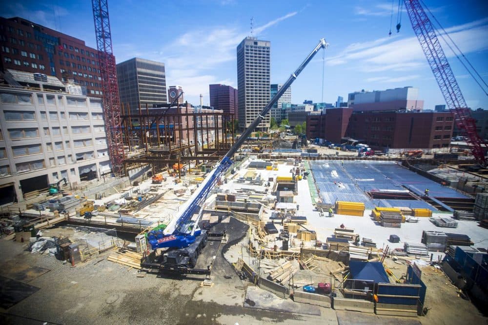
[[[442,95],[446,100],[447,107],[452,112],[454,122],[459,130],[464,131],[471,143],[474,158],[482,166],[487,165],[483,151],[484,141],[476,132],[475,120],[471,117],[468,105],[461,93],[461,89],[452,73],[449,62],[447,62],[444,50],[435,34],[432,22],[427,17],[424,8],[419,0],[404,0],[407,7],[408,17],[412,23],[413,31],[417,35],[420,46],[426,55],[434,77],[441,88]],[[397,27],[399,28],[399,27]]]

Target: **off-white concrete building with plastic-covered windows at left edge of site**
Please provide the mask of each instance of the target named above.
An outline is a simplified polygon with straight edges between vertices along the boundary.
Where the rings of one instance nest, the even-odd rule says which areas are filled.
[[[0,204],[110,172],[101,99],[0,87],[0,102]]]

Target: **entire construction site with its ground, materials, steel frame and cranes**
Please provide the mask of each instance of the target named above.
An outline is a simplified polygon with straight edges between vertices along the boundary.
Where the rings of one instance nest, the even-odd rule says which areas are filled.
[[[462,158],[256,133],[325,39],[239,133],[178,97],[134,114],[109,82],[98,2],[112,173],[1,206],[2,324],[487,321],[486,144],[446,94],[458,86],[419,1],[405,5],[443,59],[429,63],[468,138]]]

